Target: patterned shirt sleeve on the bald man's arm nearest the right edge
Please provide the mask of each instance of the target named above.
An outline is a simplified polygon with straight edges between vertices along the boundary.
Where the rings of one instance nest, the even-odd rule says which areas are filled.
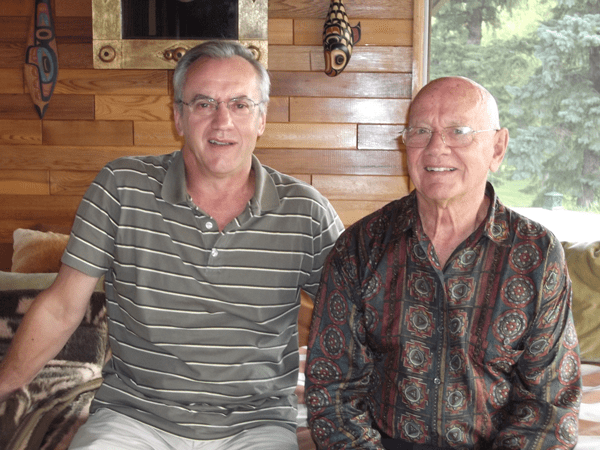
[[[572,449],[577,443],[581,371],[562,246],[552,239],[539,308],[513,375],[504,426],[493,448]]]

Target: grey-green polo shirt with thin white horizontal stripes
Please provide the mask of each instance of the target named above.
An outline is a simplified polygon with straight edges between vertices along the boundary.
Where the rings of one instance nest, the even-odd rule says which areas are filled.
[[[92,411],[213,440],[295,430],[300,289],[314,295],[343,226],[313,187],[262,166],[220,232],[187,194],[180,151],[107,164],[63,263],[105,275],[113,357]]]

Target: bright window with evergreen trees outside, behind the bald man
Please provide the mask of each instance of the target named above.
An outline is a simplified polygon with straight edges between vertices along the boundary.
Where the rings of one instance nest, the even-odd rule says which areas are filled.
[[[429,78],[496,97],[500,199],[561,240],[600,239],[600,1],[431,0]]]

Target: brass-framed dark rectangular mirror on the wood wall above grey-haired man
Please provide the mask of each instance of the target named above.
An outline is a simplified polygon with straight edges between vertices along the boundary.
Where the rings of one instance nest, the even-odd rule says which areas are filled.
[[[267,65],[268,0],[92,0],[95,69],[172,69],[205,40],[231,39]]]

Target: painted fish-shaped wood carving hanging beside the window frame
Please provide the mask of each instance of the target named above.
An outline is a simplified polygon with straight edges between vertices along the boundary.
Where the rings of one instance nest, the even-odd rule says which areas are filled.
[[[330,77],[339,75],[352,56],[354,44],[360,41],[360,22],[350,26],[342,0],[331,0],[327,19],[323,26],[323,50],[325,73]]]

